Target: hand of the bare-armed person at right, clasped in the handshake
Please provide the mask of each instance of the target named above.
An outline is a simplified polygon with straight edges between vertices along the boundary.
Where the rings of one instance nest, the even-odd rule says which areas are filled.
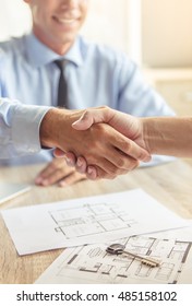
[[[147,148],[143,139],[142,121],[136,117],[117,111],[109,107],[99,107],[94,109],[91,108],[87,109],[79,120],[73,122],[72,126],[76,130],[86,130],[92,127],[92,125],[99,122],[106,122],[110,125],[131,141],[134,141],[134,143],[131,142],[128,151],[130,156],[143,162],[148,162],[151,160],[149,154],[146,156],[146,158],[143,158],[143,149],[147,150]],[[56,155],[59,153],[60,152],[57,150]],[[76,160],[76,156],[73,154],[73,152],[68,152],[67,160],[69,165],[75,166],[81,173],[86,173],[88,178],[96,179],[96,168],[93,167],[93,165],[89,166],[84,156],[81,156]]]

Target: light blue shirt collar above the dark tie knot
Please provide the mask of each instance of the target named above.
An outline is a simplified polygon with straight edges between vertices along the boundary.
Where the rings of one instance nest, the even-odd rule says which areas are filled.
[[[57,59],[67,59],[75,66],[83,64],[83,50],[81,48],[81,36],[77,36],[72,47],[64,56],[58,56],[55,51],[44,45],[31,33],[26,36],[27,60],[34,67],[41,67]]]

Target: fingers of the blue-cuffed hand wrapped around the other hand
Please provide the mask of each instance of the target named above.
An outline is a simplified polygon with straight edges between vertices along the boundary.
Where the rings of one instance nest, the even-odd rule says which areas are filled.
[[[88,165],[97,165],[107,174],[116,175],[119,170],[132,169],[130,161],[139,157],[142,161],[149,161],[151,156],[147,151],[108,125],[99,123],[94,125],[93,130],[92,128],[91,134],[95,141],[89,148],[87,146],[88,150],[85,153]],[[84,156],[84,154],[82,155]]]

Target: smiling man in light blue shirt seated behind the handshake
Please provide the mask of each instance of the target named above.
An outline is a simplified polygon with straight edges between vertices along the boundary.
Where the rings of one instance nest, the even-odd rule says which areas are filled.
[[[4,96],[26,104],[57,106],[60,71],[53,61],[65,59],[69,108],[107,105],[134,116],[173,115],[124,54],[89,44],[79,36],[88,0],[49,0],[46,5],[44,0],[24,1],[32,11],[33,32],[0,43]],[[163,161],[163,157],[156,157],[156,161],[158,158]],[[48,151],[26,161],[14,160],[14,163],[37,161],[50,162],[37,176],[39,185],[60,181],[60,186],[64,186],[84,178],[67,167],[62,158],[52,160]],[[3,164],[10,164],[10,160],[4,160]]]

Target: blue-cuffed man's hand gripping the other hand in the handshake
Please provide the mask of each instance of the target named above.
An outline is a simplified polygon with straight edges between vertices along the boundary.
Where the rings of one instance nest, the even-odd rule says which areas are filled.
[[[97,170],[97,178],[115,178],[139,166],[137,160],[149,160],[146,150],[110,125],[97,123],[86,130],[72,128],[72,123],[83,114],[84,110],[49,110],[40,127],[41,144],[73,152],[76,157],[84,156],[87,164]],[[129,155],[130,151],[133,152],[132,156]]]

